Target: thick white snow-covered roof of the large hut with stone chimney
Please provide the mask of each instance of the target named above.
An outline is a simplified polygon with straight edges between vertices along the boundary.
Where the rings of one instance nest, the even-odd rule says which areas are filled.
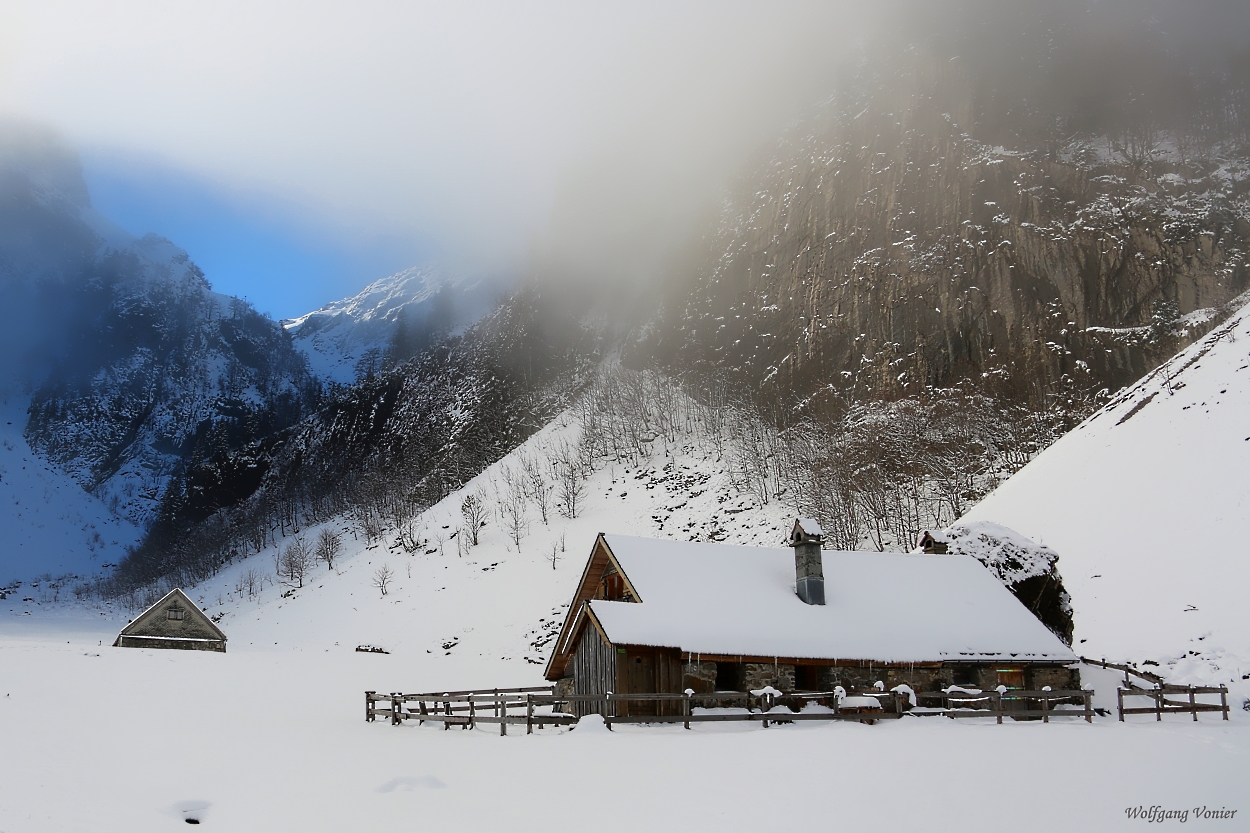
[[[1076,655],[968,555],[824,553],[824,605],[795,594],[794,552],[604,535],[640,603],[590,602],[614,644],[879,662]]]

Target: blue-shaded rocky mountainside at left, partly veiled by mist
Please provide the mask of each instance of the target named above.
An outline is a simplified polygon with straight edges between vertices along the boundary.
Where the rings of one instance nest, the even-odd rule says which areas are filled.
[[[182,467],[296,422],[316,401],[276,321],[211,290],[186,253],[91,209],[72,153],[0,125],[0,388],[25,439],[146,525]]]

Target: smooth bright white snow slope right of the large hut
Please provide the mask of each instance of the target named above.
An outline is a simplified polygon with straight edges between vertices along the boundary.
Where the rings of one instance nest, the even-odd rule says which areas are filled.
[[[1078,653],[1250,673],[1250,306],[978,504],[1059,554]]]

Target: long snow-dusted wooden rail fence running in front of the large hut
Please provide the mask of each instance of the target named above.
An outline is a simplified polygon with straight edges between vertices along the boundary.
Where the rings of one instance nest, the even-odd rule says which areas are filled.
[[[845,699],[840,698],[842,695]],[[1092,722],[1092,692],[928,692],[921,699],[940,697],[938,708],[915,708],[902,692],[865,689],[859,692],[716,692],[711,694],[559,694],[555,687],[509,688],[464,692],[428,692],[405,694],[401,692],[365,692],[365,720],[388,718],[391,725],[404,720],[442,723],[474,728],[479,723],[498,723],[499,733],[508,734],[508,725],[525,725],[526,734],[535,727],[572,725],[579,715],[572,710],[598,712],[604,723],[681,723],[686,729],[691,723],[719,723],[731,720],[769,723],[794,723],[806,720],[860,720],[898,719],[904,714],[941,714],[951,718],[1038,719],[1049,723],[1052,717],[1082,717]],[[865,699],[870,698],[870,699]],[[854,703],[854,705],[851,705]],[[630,708],[634,704],[634,708]],[[644,707],[644,704],[646,704]],[[1076,704],[1078,709],[1062,705]],[[625,708],[621,709],[620,707]],[[1060,708],[1056,708],[1059,705]],[[595,708],[588,708],[595,707]],[[638,714],[639,707],[654,709],[650,714]],[[731,707],[731,710],[720,710]],[[815,707],[815,708],[810,708]],[[624,712],[624,713],[621,713]],[[635,712],[635,713],[630,713]]]

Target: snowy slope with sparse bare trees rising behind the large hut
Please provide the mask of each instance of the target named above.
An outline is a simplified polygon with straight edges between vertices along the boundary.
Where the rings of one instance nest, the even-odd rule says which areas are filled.
[[[491,674],[504,680],[494,685],[542,684],[546,643],[561,624],[562,605],[598,533],[774,547],[785,540],[794,510],[784,503],[764,505],[739,495],[715,450],[688,437],[681,452],[672,449],[671,457],[656,440],[648,459],[632,464],[600,460],[584,482],[575,518],[558,510],[552,484],[546,523],[538,503],[528,500],[518,545],[502,510],[509,479],[520,478],[526,462],[549,465],[562,448],[575,445],[579,432],[575,415],[566,411],[461,489],[376,542],[365,540],[350,519],[328,524],[341,530],[344,558],[334,572],[319,565],[304,589],[290,593],[274,575],[274,559],[291,543],[288,538],[194,588],[191,598],[211,615],[224,614],[220,624],[231,644],[324,649],[335,642],[371,643],[405,657],[405,663],[422,660],[428,652],[465,658],[462,669],[448,668],[438,683],[426,684],[450,685],[446,678],[455,677],[482,685]],[[461,505],[470,494],[484,495],[491,507],[476,547],[464,540],[469,532]],[[320,529],[306,530],[304,539],[315,542]],[[385,597],[372,584],[381,567],[394,572]],[[240,577],[249,572],[268,577],[256,600],[239,590]]]

